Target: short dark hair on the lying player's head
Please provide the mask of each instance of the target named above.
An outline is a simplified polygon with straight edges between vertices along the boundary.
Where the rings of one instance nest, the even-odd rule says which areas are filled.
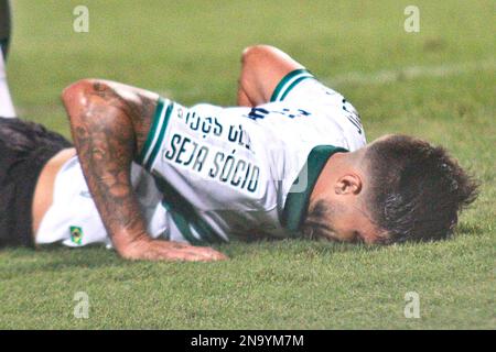
[[[459,212],[477,197],[478,183],[440,146],[390,135],[367,148],[373,221],[384,242],[430,241],[452,235]]]

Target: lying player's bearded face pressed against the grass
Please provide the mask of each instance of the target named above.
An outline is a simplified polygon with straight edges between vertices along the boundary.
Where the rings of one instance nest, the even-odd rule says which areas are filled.
[[[344,206],[320,200],[311,207],[303,233],[316,240],[351,243],[376,243],[380,231],[357,206]]]

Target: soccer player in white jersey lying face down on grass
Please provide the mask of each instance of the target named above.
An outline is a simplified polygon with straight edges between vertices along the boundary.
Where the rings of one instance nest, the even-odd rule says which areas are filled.
[[[2,205],[3,243],[107,243],[131,260],[215,261],[225,256],[200,245],[438,240],[475,198],[475,183],[441,147],[405,135],[366,145],[353,106],[270,46],[244,52],[234,108],[185,108],[96,79],[62,97],[76,148],[25,122],[0,125],[0,175],[21,187]]]

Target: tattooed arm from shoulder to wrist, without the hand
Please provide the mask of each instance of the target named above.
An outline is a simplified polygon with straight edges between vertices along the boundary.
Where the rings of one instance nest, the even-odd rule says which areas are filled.
[[[157,106],[157,99],[139,91],[122,95],[120,89],[125,88],[96,81],[84,94],[85,103],[72,108],[66,102],[89,190],[118,251],[121,244],[147,235],[130,167],[144,144]]]

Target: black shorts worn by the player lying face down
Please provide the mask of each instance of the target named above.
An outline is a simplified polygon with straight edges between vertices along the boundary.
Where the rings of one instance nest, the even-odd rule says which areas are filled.
[[[71,142],[41,124],[0,118],[0,248],[34,246],[31,208],[37,177],[67,147]]]

